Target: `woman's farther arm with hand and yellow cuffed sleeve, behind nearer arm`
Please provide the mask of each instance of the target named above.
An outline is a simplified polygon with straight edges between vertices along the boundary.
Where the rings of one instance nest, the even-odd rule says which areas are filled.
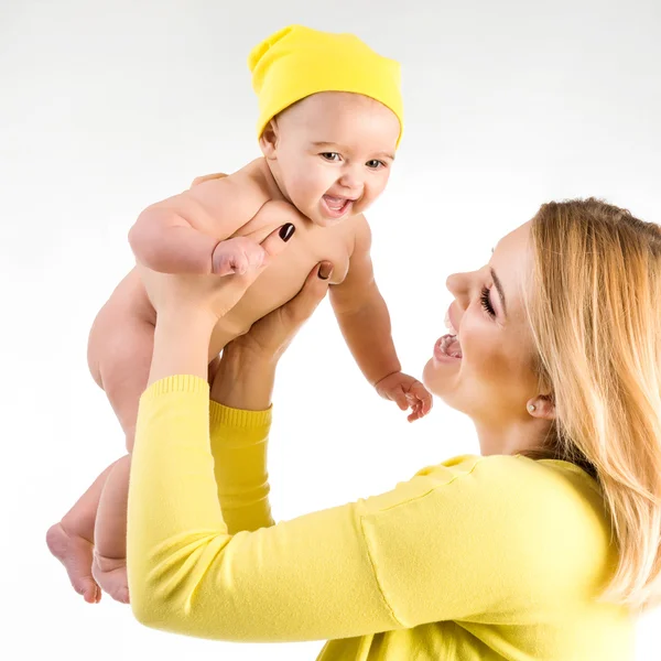
[[[273,525],[267,449],[275,366],[327,291],[333,266],[319,264],[288,304],[230,343],[212,386],[210,443],[228,532]]]

